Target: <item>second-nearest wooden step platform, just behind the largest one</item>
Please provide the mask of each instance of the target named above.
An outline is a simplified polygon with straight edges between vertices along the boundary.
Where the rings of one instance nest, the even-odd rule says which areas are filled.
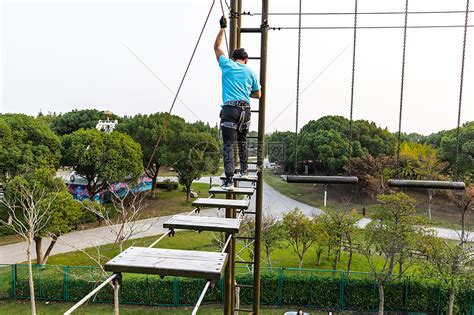
[[[175,215],[163,223],[169,229],[239,233],[240,219]]]

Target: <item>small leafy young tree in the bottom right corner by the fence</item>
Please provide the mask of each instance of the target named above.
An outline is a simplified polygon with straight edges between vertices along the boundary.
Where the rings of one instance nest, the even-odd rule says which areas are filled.
[[[441,277],[449,287],[448,314],[454,314],[456,291],[470,272],[474,263],[473,247],[463,247],[449,243],[445,240],[434,238],[429,246],[429,261],[435,268],[433,274]]]

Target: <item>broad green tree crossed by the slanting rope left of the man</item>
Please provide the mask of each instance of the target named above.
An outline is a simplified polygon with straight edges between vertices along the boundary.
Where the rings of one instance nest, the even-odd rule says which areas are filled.
[[[156,149],[152,164],[147,168],[156,141],[163,132],[162,128],[167,119],[169,119],[168,127]],[[181,134],[187,129],[199,133],[203,129],[206,130],[207,126],[194,123],[187,127],[186,122],[181,117],[174,115],[168,116],[168,113],[156,113],[125,118],[116,128],[117,131],[128,134],[133,140],[140,144],[143,151],[143,168],[146,174],[153,180],[152,189],[156,186],[156,178],[160,167],[165,165],[171,166],[177,161],[182,151],[181,145],[177,145],[177,141],[181,139]],[[215,134],[217,134],[217,132]]]

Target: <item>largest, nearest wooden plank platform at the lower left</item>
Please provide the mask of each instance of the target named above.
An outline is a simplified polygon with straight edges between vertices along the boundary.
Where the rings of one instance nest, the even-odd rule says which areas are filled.
[[[225,253],[129,247],[107,262],[105,271],[218,280],[226,263]]]

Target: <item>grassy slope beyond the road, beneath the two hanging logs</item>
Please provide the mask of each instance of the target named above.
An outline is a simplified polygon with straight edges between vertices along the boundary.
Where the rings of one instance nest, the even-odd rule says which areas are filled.
[[[283,195],[324,210],[324,185],[289,184],[284,182],[280,175],[273,174],[272,172],[265,172],[264,178],[270,187]],[[357,192],[357,187],[354,185],[328,185],[327,191],[327,207],[336,210],[355,210],[357,213],[362,213],[362,207],[367,205],[367,215],[370,217],[371,207],[376,203],[376,200]],[[418,214],[428,217],[428,195],[426,191],[410,190],[405,191],[405,193],[415,198]],[[460,229],[460,221],[461,216],[458,209],[448,202],[445,192],[438,191],[433,198],[431,224],[450,229]],[[472,229],[474,218],[467,217],[466,222],[468,223],[467,228]]]

